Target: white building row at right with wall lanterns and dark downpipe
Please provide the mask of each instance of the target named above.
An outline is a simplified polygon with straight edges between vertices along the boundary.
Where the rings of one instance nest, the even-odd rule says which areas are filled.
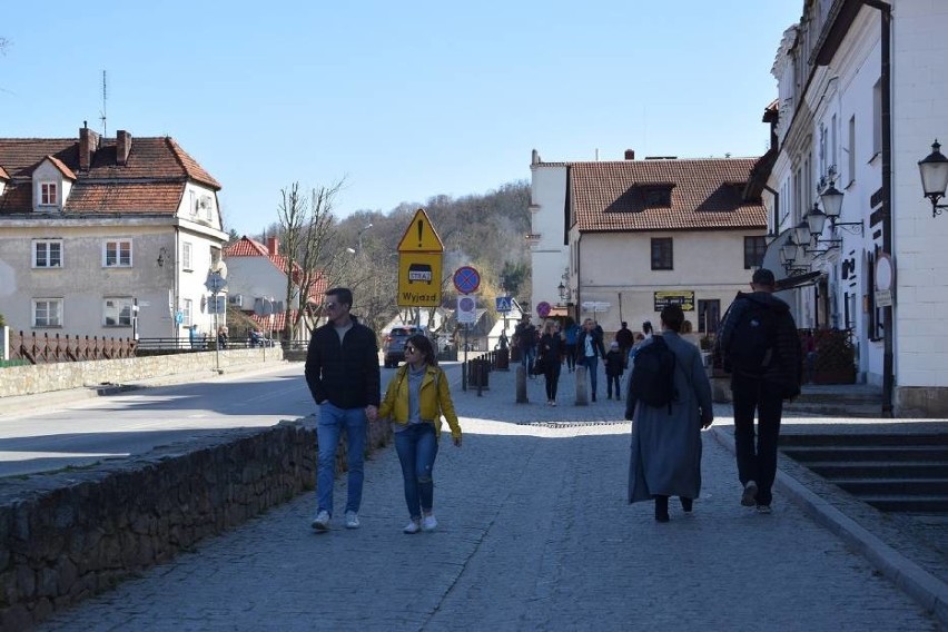
[[[882,388],[883,413],[944,416],[948,218],[932,217],[917,164],[948,138],[948,3],[877,4],[808,1],[784,33],[773,66],[779,152],[763,196],[779,237],[768,260],[800,241],[791,266],[821,276],[793,290],[798,325],[851,333],[859,379]],[[842,194],[836,225],[792,235],[814,204],[827,209],[831,187]],[[879,287],[887,255],[889,293]]]

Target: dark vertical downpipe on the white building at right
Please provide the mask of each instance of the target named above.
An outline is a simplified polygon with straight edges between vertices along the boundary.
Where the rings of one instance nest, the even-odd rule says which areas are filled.
[[[862,3],[877,9],[881,16],[881,50],[882,58],[879,79],[882,82],[882,251],[896,258],[892,253],[892,79],[891,79],[891,27],[892,6],[880,0],[861,0]],[[898,277],[897,277],[898,278]],[[896,288],[898,294],[898,288]],[[882,346],[882,416],[892,417],[892,395],[895,392],[895,363],[892,343],[895,337],[892,306],[882,308],[882,330],[886,336]]]

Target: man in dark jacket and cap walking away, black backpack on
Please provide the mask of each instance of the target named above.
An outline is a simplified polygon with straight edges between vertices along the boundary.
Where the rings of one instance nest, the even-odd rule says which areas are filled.
[[[741,504],[770,513],[783,399],[800,394],[802,361],[790,306],[773,296],[773,273],[754,271],[750,294],[738,293],[718,335],[734,398],[734,448]],[[754,412],[758,415],[754,445]]]

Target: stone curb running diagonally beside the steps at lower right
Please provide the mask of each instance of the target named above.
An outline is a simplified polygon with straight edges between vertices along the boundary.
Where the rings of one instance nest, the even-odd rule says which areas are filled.
[[[711,433],[720,445],[734,454],[733,434],[720,427],[712,427]],[[948,584],[879,540],[779,466],[774,484],[807,515],[862,555],[882,575],[928,610],[941,625],[948,626]]]

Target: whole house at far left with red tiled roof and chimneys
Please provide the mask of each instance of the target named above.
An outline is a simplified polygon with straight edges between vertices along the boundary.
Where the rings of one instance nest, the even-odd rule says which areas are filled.
[[[0,309],[37,336],[214,329],[220,185],[168,137],[0,139]],[[223,315],[221,315],[223,317]]]

